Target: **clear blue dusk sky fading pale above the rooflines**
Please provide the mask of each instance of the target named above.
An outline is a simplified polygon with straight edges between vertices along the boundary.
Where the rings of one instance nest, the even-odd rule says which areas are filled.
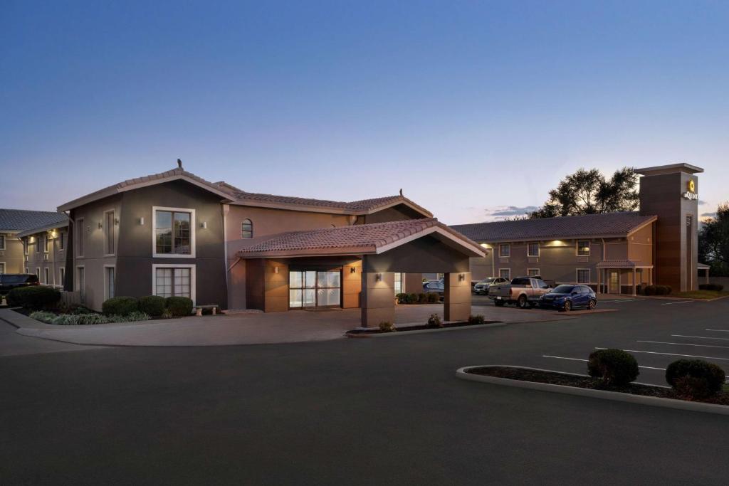
[[[726,1],[0,1],[0,207],[176,167],[515,216],[580,167],[729,199]]]

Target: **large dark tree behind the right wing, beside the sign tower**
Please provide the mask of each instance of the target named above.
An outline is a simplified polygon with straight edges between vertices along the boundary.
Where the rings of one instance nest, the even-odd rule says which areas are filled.
[[[566,176],[549,199],[529,217],[553,218],[579,214],[615,213],[635,211],[638,208],[638,174],[633,168],[615,171],[610,179],[597,169],[581,168]]]

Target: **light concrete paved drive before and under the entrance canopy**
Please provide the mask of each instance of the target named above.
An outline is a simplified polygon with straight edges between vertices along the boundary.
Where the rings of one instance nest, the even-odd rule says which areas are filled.
[[[395,322],[425,324],[433,313],[443,318],[443,305],[401,305],[395,309]],[[549,311],[494,305],[474,305],[472,313],[483,314],[489,321],[507,323],[570,318]],[[20,317],[25,318],[23,315]],[[28,319],[19,325],[17,332],[82,345],[221,346],[341,339],[345,332],[358,327],[360,322],[359,309],[293,310],[96,326],[54,326]]]

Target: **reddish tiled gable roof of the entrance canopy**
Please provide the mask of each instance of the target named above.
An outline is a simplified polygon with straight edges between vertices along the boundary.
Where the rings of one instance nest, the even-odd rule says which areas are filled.
[[[381,254],[426,235],[434,235],[471,256],[483,248],[435,218],[289,231],[263,237],[238,251],[241,258]]]

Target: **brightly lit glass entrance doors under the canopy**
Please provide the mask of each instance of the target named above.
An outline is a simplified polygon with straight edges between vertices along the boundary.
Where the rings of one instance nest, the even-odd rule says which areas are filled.
[[[342,274],[335,271],[289,272],[289,307],[336,307],[341,304]]]

